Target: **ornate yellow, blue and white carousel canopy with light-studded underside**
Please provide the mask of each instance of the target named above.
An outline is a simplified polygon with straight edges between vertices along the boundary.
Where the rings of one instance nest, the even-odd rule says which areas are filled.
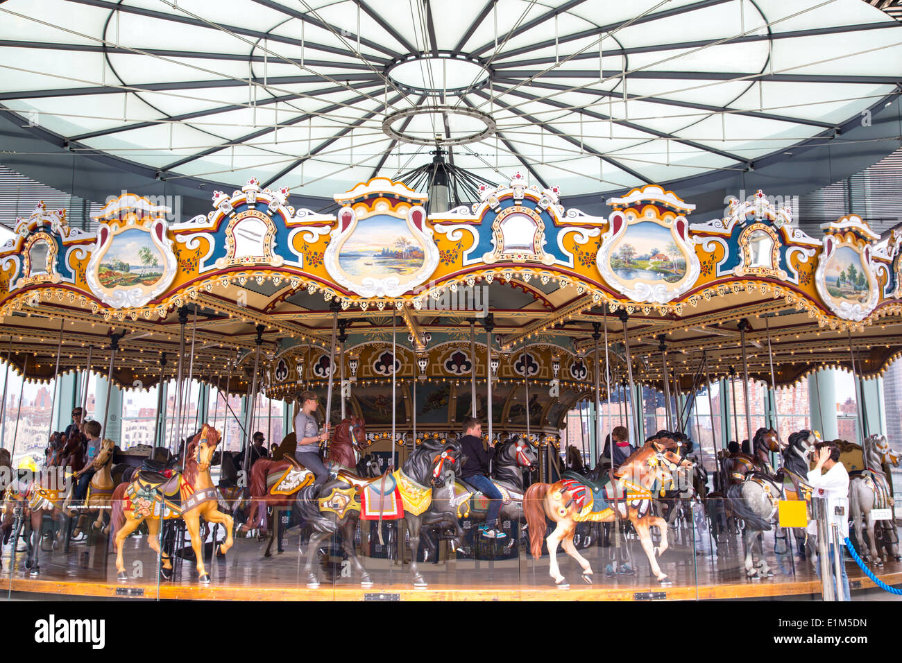
[[[385,179],[336,194],[336,215],[288,193],[252,179],[176,224],[125,194],[97,234],[37,207],[0,253],[0,352],[50,379],[89,353],[106,372],[115,346],[115,382],[139,388],[174,377],[184,353],[194,379],[246,392],[256,365],[258,388],[288,398],[327,383],[335,326],[336,382],[453,384],[465,408],[472,376],[491,372],[499,388],[529,380],[548,410],[592,391],[596,365],[613,390],[627,355],[661,389],[666,351],[669,380],[691,391],[741,372],[743,347],[750,376],[779,385],[828,365],[874,376],[902,346],[902,232],[879,241],[843,216],[806,235],[763,192],[705,223],[658,186],[584,215],[519,173],[431,216]]]

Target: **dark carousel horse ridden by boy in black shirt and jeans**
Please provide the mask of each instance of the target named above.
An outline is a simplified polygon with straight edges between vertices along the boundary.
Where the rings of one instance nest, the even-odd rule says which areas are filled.
[[[538,463],[538,451],[536,447],[529,443],[529,440],[514,436],[510,439],[500,442],[495,446],[495,458],[493,465],[494,478],[492,483],[502,493],[502,508],[498,512],[498,520],[511,520],[511,522],[522,522],[523,520],[523,472],[533,470]],[[455,506],[458,517],[474,516],[474,520],[485,520],[485,515],[489,510],[488,499],[483,493],[477,491],[473,486],[466,483],[465,479],[456,479],[453,485],[448,486],[448,490],[452,491],[449,499]],[[433,499],[436,499],[435,497]],[[446,499],[444,495],[440,499]],[[450,525],[454,527],[455,523],[433,523],[433,527],[425,527],[421,529],[423,541],[426,543],[429,552],[435,554],[437,552],[435,539],[432,538],[432,531],[441,529]],[[523,529],[526,524],[523,523]],[[453,539],[463,535],[463,530],[455,528]],[[513,548],[517,537],[511,538],[507,544],[508,550]]]

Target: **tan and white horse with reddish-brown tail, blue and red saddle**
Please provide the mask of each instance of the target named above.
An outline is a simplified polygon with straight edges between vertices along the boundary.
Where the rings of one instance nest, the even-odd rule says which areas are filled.
[[[667,523],[651,512],[651,501],[669,483],[680,465],[692,461],[679,456],[679,447],[669,437],[650,439],[633,452],[620,468],[608,475],[604,483],[590,483],[586,479],[561,478],[556,483],[533,483],[523,498],[523,511],[529,524],[529,547],[532,556],[542,555],[548,518],[556,527],[545,540],[551,556],[549,574],[558,587],[566,587],[566,580],[557,566],[557,545],[583,568],[583,580],[592,584],[592,566],[574,547],[573,534],[577,522],[594,520],[612,522],[618,516],[629,518],[649,558],[651,572],[661,584],[667,574],[661,571],[655,558],[667,550]],[[655,548],[649,528],[657,527],[661,545]]]

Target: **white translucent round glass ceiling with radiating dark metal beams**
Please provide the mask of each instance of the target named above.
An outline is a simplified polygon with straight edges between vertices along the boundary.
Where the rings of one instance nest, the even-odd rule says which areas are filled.
[[[566,195],[712,170],[897,89],[902,24],[862,0],[7,0],[0,105],[159,171],[329,197],[450,148]],[[429,112],[441,106],[441,112]],[[394,134],[393,134],[394,135]]]

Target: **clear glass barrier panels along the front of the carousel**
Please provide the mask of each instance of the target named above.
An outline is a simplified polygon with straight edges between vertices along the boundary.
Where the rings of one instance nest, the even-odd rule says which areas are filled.
[[[232,546],[225,555],[226,525],[215,521],[222,520],[218,516],[201,520],[197,532],[180,518],[165,520],[162,528],[159,519],[148,519],[134,528],[125,526],[133,531],[122,541],[121,564],[115,550],[121,509],[110,509],[92,495],[87,501],[72,500],[69,511],[55,517],[49,509],[39,513],[35,508],[31,520],[10,499],[4,520],[9,538],[4,530],[0,550],[7,596],[408,600],[418,598],[411,592],[425,592],[419,598],[821,598],[813,538],[806,540],[802,527],[778,527],[778,519],[787,515],[782,505],[772,518],[764,514],[767,529],[761,529],[735,496],[716,493],[704,500],[684,494],[653,500],[633,495],[628,501],[631,517],[617,519],[613,509],[622,509],[622,499],[595,493],[588,484],[586,493],[571,485],[556,494],[552,486],[544,495],[530,493],[529,502],[509,493],[492,504],[456,483],[453,494],[436,489],[434,501],[414,516],[426,502],[405,502],[395,487],[379,488],[333,493],[326,502],[309,505],[313,511],[308,514],[316,513],[308,519],[314,529],[301,527],[305,508],[292,499],[261,508],[261,502],[246,499],[240,489],[224,488],[217,495],[218,510],[235,518]],[[141,510],[148,506],[142,499],[138,494],[120,503]],[[492,506],[500,514],[489,527]],[[159,513],[159,506],[151,507]],[[396,517],[400,509],[406,517]],[[345,530],[336,530],[334,523],[349,512],[354,524],[346,529],[350,540],[345,541]],[[116,520],[112,525],[111,518]],[[535,540],[530,541],[530,534]],[[410,543],[418,536],[413,564]],[[34,543],[31,557],[29,538]],[[880,565],[867,528],[859,537],[853,525],[851,539],[877,576],[889,585],[902,583],[895,521],[877,521]],[[557,543],[554,554],[549,542],[553,547]],[[848,555],[843,555],[843,565],[853,598],[857,590],[873,586]]]

